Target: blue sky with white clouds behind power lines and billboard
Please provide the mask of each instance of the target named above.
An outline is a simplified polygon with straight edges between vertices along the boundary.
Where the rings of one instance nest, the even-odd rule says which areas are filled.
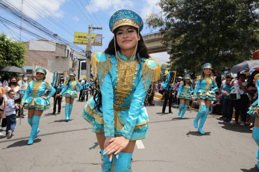
[[[17,8],[21,7],[21,0],[8,1]],[[151,12],[158,13],[160,11],[159,7],[156,6],[158,1],[159,0],[24,0],[23,12],[69,42],[73,42],[74,32],[87,33],[89,24],[93,24],[94,27],[102,27],[102,31],[95,30],[93,33],[103,34],[103,46],[93,47],[92,51],[104,51],[110,40],[113,38],[113,34],[110,32],[108,24],[110,16],[115,11],[122,8],[132,9],[138,12],[138,14],[141,15],[142,19],[145,21],[146,15],[149,15]],[[93,15],[87,2],[90,4],[90,7],[96,17]],[[77,6],[82,10],[82,12]],[[0,16],[18,25],[20,23],[19,20],[15,19],[1,9]],[[52,17],[68,31],[64,31],[63,29],[56,26],[55,23],[49,19],[49,17]],[[48,38],[46,35],[40,33],[37,30],[33,30],[25,24],[23,24],[23,27],[32,30],[44,38]],[[13,31],[8,31],[7,28],[2,23],[0,23],[1,31],[4,31],[8,37],[14,37],[16,40],[18,40],[19,31],[12,27],[10,28],[16,33]],[[154,31],[156,30],[151,31],[149,28],[147,28],[147,25],[144,24],[144,28],[141,34],[148,34]],[[21,39],[25,41],[28,39],[36,38],[31,35],[22,33]],[[85,49],[85,46],[81,47],[82,49]],[[169,55],[166,52],[152,54],[151,56],[157,59],[160,64],[169,60]]]

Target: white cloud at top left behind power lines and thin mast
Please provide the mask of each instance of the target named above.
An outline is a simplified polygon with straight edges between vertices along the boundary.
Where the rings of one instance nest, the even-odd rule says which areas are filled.
[[[62,18],[64,16],[64,12],[60,10],[60,6],[65,1],[66,0],[26,0],[23,3],[23,13],[33,19],[38,19],[39,15],[49,16],[52,14],[58,18]],[[21,8],[21,1],[9,0],[9,2],[16,8]]]

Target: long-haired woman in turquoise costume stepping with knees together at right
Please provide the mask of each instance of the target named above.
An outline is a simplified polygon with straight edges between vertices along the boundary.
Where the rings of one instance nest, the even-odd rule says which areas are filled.
[[[215,82],[214,77],[212,77],[212,65],[210,63],[205,63],[202,66],[202,75],[197,77],[197,84],[194,89],[194,97],[195,100],[199,103],[199,111],[194,119],[194,127],[198,128],[198,121],[200,120],[198,132],[201,134],[205,134],[202,131],[202,127],[207,118],[209,109],[210,109],[210,101],[216,100],[215,98],[215,90],[218,89],[217,84]],[[213,89],[212,89],[213,87]]]

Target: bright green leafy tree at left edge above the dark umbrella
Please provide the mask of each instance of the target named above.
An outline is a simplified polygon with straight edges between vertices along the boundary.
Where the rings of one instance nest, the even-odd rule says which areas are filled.
[[[26,46],[22,42],[7,38],[3,32],[0,34],[0,68],[5,66],[17,66],[23,68],[26,58],[24,52]]]

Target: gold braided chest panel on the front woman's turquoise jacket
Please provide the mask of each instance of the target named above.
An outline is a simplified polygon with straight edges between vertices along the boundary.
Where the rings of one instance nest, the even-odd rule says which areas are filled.
[[[121,107],[122,103],[128,97],[130,92],[132,91],[132,86],[135,85],[133,80],[136,79],[135,75],[138,71],[138,60],[133,61],[124,61],[117,58],[117,67],[116,72],[116,86],[115,86],[115,97],[116,97],[116,107]]]

